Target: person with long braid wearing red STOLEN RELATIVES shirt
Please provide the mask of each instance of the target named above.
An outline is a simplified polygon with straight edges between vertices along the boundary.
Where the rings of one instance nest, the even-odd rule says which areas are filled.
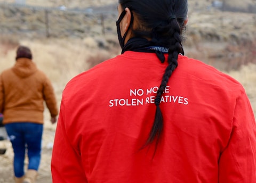
[[[122,54],[62,94],[53,183],[256,182],[256,124],[241,84],[184,56],[187,0],[119,0]]]

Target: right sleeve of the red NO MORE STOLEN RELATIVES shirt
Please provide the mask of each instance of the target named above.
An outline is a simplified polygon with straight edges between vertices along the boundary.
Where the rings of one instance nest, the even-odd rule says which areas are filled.
[[[256,182],[256,125],[244,90],[237,98],[229,143],[219,159],[219,183],[228,182]]]

